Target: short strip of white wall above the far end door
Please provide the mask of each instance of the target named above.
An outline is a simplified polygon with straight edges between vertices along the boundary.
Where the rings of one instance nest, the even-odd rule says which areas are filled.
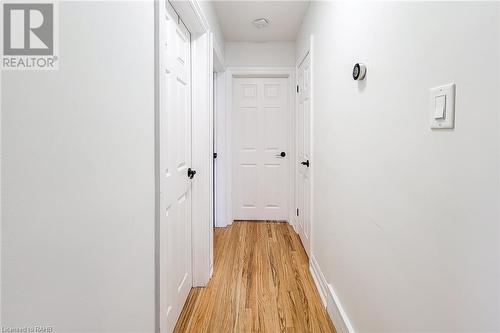
[[[294,67],[295,42],[226,42],[227,67]]]

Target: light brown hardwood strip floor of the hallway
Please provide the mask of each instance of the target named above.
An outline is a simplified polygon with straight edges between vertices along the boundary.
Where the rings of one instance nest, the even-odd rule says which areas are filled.
[[[214,274],[193,288],[175,332],[335,332],[288,223],[234,222],[215,231]]]

